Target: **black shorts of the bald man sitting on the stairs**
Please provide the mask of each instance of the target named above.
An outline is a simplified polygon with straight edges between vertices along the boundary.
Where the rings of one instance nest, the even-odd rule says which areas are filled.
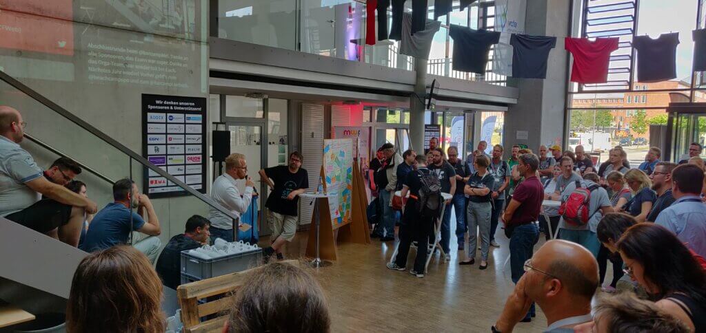
[[[23,225],[46,234],[57,227],[66,225],[68,219],[71,218],[71,205],[65,205],[52,199],[42,199],[35,202],[32,206],[7,215],[5,218],[18,225]]]

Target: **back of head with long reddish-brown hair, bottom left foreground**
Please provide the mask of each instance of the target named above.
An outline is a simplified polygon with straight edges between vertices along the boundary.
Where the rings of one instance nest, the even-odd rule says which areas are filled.
[[[131,246],[83,258],[73,273],[66,327],[71,333],[164,332],[162,281]]]

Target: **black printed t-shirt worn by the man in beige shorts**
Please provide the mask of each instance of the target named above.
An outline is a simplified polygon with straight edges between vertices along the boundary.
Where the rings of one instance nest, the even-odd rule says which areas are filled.
[[[275,213],[297,216],[299,196],[292,200],[287,200],[287,196],[297,189],[309,188],[309,173],[304,168],[292,173],[287,165],[277,165],[265,169],[265,175],[275,183],[275,189],[270,192],[265,206]]]

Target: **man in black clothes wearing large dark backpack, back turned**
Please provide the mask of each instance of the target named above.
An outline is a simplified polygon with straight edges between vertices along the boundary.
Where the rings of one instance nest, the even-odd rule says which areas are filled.
[[[429,236],[433,234],[431,230],[436,214],[428,211],[420,212],[417,208],[422,175],[431,175],[431,170],[426,168],[426,156],[417,155],[417,170],[407,173],[407,179],[403,182],[402,198],[409,194],[409,200],[405,204],[405,213],[400,223],[400,245],[397,247],[397,256],[387,264],[390,270],[406,270],[409,245],[413,240],[417,241],[417,244],[428,244]],[[424,277],[426,255],[424,249],[417,249],[414,268],[409,270],[412,275]]]

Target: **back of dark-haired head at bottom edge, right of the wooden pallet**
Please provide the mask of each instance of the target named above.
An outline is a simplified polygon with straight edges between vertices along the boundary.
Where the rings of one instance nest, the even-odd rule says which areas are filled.
[[[238,289],[224,333],[328,333],[331,320],[321,285],[287,263],[250,273]]]

